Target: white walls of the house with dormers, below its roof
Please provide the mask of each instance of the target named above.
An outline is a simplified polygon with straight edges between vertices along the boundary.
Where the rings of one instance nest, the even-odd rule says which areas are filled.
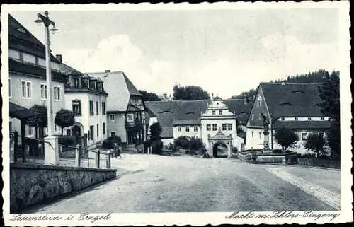
[[[90,101],[91,104],[90,110]],[[74,110],[74,106],[80,103],[80,115],[75,116],[75,125],[81,128],[81,136],[87,134],[87,144],[96,144],[107,138],[108,125],[105,113],[106,96],[89,91],[65,93],[65,108]]]

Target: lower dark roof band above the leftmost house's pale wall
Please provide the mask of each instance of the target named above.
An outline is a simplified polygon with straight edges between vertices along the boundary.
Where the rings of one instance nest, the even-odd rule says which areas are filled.
[[[37,66],[35,64],[26,64],[14,59],[8,59],[8,71],[40,76],[42,78],[47,77],[46,69],[44,67]],[[52,69],[52,79],[57,81],[65,81],[64,75],[60,71],[54,69]]]

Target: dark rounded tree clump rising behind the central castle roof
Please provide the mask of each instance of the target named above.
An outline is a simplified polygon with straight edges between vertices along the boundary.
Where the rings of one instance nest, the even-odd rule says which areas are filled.
[[[208,100],[210,94],[200,86],[185,86],[176,88],[173,92],[173,100]]]

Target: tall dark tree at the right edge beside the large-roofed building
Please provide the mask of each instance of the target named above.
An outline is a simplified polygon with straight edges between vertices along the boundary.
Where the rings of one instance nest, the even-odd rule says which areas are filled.
[[[321,107],[321,113],[329,116],[333,122],[327,135],[327,144],[332,153],[337,156],[341,156],[339,76],[339,71],[333,71],[331,74],[326,72],[324,83],[319,86],[319,98],[321,98],[322,102],[318,104]]]

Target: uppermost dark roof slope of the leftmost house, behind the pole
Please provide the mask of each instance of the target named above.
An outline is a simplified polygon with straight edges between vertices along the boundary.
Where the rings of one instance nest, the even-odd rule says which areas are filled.
[[[25,33],[19,31],[18,28],[23,28]],[[8,47],[45,59],[45,45],[10,14],[8,14]],[[59,63],[59,60],[52,54],[50,54],[50,59],[52,62]]]

